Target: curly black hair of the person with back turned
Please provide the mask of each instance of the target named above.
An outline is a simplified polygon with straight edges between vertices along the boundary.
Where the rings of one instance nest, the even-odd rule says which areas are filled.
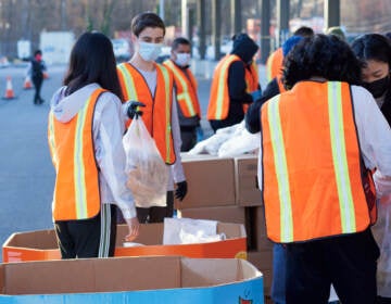
[[[330,81],[361,83],[361,63],[349,45],[335,35],[302,39],[285,58],[283,85],[321,77]]]

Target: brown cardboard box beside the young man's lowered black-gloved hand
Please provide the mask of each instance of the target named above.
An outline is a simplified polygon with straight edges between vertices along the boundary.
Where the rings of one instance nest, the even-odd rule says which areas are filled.
[[[182,166],[188,193],[175,208],[235,205],[234,159],[182,156]]]

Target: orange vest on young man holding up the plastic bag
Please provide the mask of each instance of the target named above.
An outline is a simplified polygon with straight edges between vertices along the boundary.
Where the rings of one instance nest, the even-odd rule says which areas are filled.
[[[171,125],[174,78],[165,66],[155,64],[155,68],[157,79],[154,98],[146,79],[130,63],[117,65],[117,73],[124,101],[136,100],[146,104],[141,109],[142,121],[154,139],[162,160],[171,165],[176,160]]]

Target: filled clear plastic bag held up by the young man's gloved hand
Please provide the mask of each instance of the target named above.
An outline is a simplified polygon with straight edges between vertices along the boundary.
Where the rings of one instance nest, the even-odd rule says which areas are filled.
[[[123,138],[127,186],[138,207],[166,206],[168,167],[144,123],[133,119]]]

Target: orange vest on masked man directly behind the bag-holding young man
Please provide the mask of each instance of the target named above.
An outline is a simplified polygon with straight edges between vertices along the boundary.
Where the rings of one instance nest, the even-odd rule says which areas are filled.
[[[186,73],[179,68],[172,60],[166,60],[163,65],[174,74],[177,101],[185,117],[201,117],[200,103],[197,97],[197,80],[189,68]]]

